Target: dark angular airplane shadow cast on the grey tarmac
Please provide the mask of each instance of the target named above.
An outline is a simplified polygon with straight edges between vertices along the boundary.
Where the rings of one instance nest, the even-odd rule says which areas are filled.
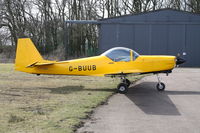
[[[131,87],[126,96],[146,114],[181,115],[168,96],[173,92],[158,92],[155,85],[155,82],[139,83]]]

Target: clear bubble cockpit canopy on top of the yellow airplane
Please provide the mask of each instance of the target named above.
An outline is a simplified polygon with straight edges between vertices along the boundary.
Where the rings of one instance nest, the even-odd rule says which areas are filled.
[[[135,60],[139,56],[137,52],[133,51],[132,49],[124,48],[124,47],[115,47],[115,48],[109,49],[101,55],[107,56],[108,58],[110,58],[111,60],[115,62],[119,62],[119,61],[128,62],[128,61],[131,61],[131,59]]]

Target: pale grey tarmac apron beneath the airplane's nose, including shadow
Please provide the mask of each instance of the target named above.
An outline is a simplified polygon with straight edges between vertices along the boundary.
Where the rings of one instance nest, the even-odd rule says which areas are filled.
[[[78,133],[200,133],[200,69],[178,68],[148,76],[98,107]]]

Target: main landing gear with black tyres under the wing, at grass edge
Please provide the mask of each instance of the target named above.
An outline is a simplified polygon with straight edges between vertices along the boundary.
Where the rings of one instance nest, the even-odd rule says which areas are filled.
[[[130,84],[131,82],[125,76],[121,77],[121,83],[117,86],[118,92],[121,94],[127,93]]]

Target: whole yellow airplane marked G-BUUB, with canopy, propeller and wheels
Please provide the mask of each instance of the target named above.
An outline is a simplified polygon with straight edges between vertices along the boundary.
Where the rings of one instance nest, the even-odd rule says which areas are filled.
[[[121,83],[117,86],[119,93],[126,93],[130,81],[128,74],[168,73],[185,60],[175,56],[146,56],[124,48],[112,48],[99,56],[67,60],[44,60],[30,38],[18,39],[15,70],[31,74],[56,74],[80,76],[119,76]],[[157,90],[163,91],[165,84],[158,77]]]

